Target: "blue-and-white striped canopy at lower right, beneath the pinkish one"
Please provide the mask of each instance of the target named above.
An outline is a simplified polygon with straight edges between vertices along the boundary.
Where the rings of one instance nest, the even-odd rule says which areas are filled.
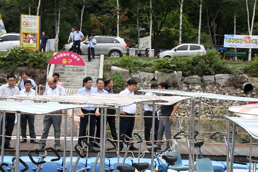
[[[238,118],[238,117],[223,117],[231,122],[237,124],[246,130],[254,139],[258,139],[258,119],[255,118]]]

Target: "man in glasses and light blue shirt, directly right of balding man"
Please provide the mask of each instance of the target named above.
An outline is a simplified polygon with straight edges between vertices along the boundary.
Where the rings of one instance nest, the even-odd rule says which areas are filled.
[[[92,87],[92,78],[90,76],[87,76],[86,78],[83,79],[83,85],[85,86],[79,89],[77,94],[97,94],[97,89]],[[76,103],[76,104],[80,105],[80,103]],[[94,104],[85,104],[85,103],[81,103],[81,105],[95,106]],[[94,137],[95,126],[96,126],[96,116],[99,116],[100,113],[99,111],[97,111],[97,108],[94,108],[94,107],[79,108],[78,113],[80,115],[79,137],[81,137],[81,138],[78,138],[78,145],[82,146],[81,141],[86,140],[84,136],[86,136],[86,126],[89,122],[89,115],[84,115],[84,114],[88,114],[88,113],[95,114],[95,115],[90,115],[90,127],[88,128],[88,136]],[[93,141],[94,139],[90,138],[89,140]]]

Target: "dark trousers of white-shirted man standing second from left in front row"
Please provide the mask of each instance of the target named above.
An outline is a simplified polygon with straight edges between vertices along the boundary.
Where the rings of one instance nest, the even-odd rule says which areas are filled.
[[[36,133],[35,133],[35,129],[34,129],[34,119],[35,119],[35,115],[31,115],[31,114],[22,114],[21,115],[21,135],[24,138],[26,137],[26,130],[27,130],[27,120],[29,123],[29,137],[32,139],[36,138]]]

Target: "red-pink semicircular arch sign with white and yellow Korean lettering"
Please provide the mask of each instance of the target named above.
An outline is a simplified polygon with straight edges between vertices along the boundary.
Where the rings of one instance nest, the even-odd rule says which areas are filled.
[[[48,64],[85,66],[83,59],[78,54],[71,51],[61,51],[56,53],[49,60]]]

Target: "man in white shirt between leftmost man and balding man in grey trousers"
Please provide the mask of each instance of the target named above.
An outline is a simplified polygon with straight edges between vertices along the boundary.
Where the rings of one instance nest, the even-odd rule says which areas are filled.
[[[24,87],[25,89],[22,89],[20,91],[20,95],[26,95],[26,96],[37,96],[38,94],[34,89],[31,89],[31,81],[29,79],[24,81]],[[20,102],[34,102],[34,100],[20,100]],[[35,101],[36,102],[36,101]],[[34,119],[35,115],[33,114],[22,114],[21,115],[21,135],[23,138],[26,137],[26,129],[27,129],[27,120],[29,123],[29,137],[31,138],[30,143],[39,143],[38,141],[34,140],[36,139],[36,133],[34,130]],[[20,143],[27,142],[27,139],[22,139]]]

